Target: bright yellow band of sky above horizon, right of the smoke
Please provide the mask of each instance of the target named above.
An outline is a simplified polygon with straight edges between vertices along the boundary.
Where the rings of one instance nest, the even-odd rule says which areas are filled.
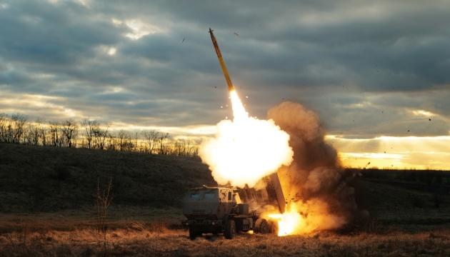
[[[354,168],[448,169],[450,136],[327,136],[342,164]],[[370,164],[368,164],[370,162]]]

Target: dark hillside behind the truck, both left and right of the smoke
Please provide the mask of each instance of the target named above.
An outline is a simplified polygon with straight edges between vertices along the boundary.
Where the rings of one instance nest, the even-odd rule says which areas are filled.
[[[372,217],[388,223],[450,222],[449,172],[362,174],[357,201]],[[116,207],[179,208],[188,188],[215,184],[198,158],[0,143],[0,213],[91,207],[97,181],[103,188],[110,178]]]

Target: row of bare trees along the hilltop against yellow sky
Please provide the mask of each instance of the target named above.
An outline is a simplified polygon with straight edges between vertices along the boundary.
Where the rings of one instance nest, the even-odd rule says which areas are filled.
[[[109,151],[134,151],[174,156],[196,156],[198,143],[173,138],[161,131],[110,131],[108,124],[88,120],[77,122],[27,121],[20,114],[0,114],[0,143],[34,146],[91,148]]]

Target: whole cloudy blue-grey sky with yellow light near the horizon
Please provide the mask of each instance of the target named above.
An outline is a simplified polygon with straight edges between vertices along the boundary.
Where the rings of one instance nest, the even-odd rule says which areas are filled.
[[[346,166],[450,168],[450,1],[0,0],[0,113],[211,136],[316,111]]]

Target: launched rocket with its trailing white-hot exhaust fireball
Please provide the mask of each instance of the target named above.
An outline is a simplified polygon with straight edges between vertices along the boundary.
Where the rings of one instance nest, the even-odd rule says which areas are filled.
[[[234,119],[217,124],[216,137],[201,144],[199,156],[209,165],[217,183],[253,187],[280,166],[289,165],[294,152],[289,146],[289,135],[276,126],[274,121],[259,120],[246,112],[231,84],[211,29],[209,34],[228,84]]]

